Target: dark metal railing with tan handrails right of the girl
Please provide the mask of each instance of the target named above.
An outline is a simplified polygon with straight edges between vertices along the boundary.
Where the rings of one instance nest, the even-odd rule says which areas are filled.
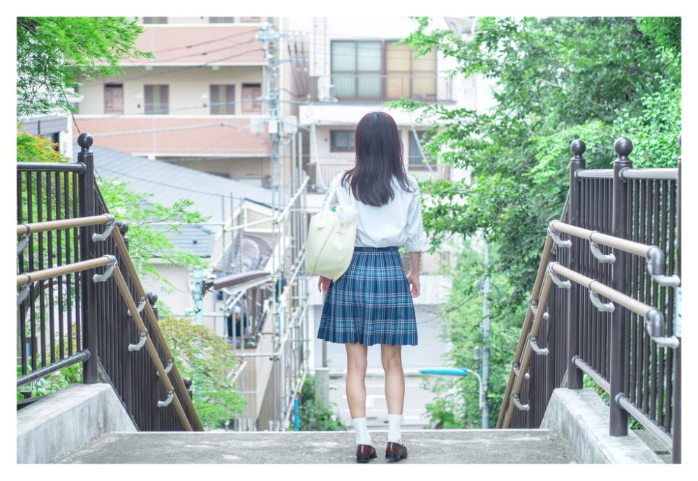
[[[552,391],[587,374],[610,397],[609,434],[632,415],[681,462],[681,159],[586,170],[572,143],[568,210],[550,222],[497,427],[539,427]],[[566,277],[562,280],[560,277]]]

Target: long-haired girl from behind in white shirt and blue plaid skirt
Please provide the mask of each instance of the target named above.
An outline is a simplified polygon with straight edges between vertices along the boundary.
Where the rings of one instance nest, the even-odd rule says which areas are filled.
[[[401,347],[417,345],[412,298],[419,296],[419,259],[427,241],[419,186],[405,173],[395,121],[385,112],[370,112],[357,124],[354,138],[355,167],[339,172],[329,189],[341,182],[330,207],[351,204],[349,189],[356,199],[354,254],[339,279],[320,276],[318,289],[326,297],[318,338],[346,346],[347,401],[356,430],[356,460],[363,463],[376,457],[366,428],[366,353],[368,346],[380,344],[388,407],[385,458],[399,461],[407,457],[400,437],[405,397]],[[399,246],[410,251],[408,275]]]

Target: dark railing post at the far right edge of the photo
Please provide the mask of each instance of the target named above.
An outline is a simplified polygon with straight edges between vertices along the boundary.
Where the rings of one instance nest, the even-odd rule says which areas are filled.
[[[678,136],[681,148],[681,135]],[[676,204],[678,205],[678,222],[676,222],[676,274],[681,278],[681,154],[678,155],[678,182],[676,183]],[[683,285],[683,283],[681,284]],[[671,462],[681,464],[681,285],[676,288],[674,335],[678,337],[678,347],[674,351],[674,432],[671,434]]]

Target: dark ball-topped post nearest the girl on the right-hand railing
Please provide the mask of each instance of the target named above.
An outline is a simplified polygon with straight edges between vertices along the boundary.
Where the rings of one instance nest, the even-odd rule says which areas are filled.
[[[581,222],[581,181],[577,178],[577,171],[586,168],[584,151],[586,144],[577,139],[570,145],[572,158],[570,159],[570,224],[579,226]],[[559,248],[559,247],[558,247]],[[579,239],[572,239],[570,247],[570,269],[579,272]],[[572,282],[567,289],[567,388],[582,388],[582,372],[577,369],[572,359],[579,354],[579,284]]]

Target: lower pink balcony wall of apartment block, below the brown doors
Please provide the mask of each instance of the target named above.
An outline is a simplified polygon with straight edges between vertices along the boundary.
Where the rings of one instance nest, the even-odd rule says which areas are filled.
[[[80,131],[102,147],[159,157],[260,157],[271,153],[241,116],[79,116]],[[266,128],[265,128],[266,130]],[[267,132],[260,134],[267,137]],[[75,134],[77,139],[77,133]]]

